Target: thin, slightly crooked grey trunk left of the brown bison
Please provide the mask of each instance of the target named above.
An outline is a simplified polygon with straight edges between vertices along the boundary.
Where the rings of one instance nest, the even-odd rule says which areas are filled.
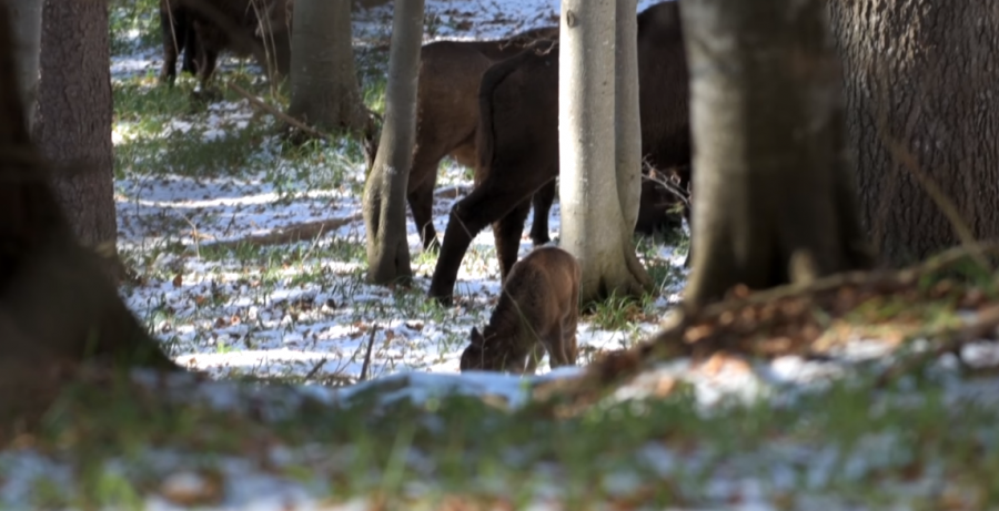
[[[392,14],[385,125],[364,186],[367,228],[367,279],[376,284],[408,280],[406,242],[407,170],[416,143],[416,78],[423,40],[423,0],[396,0]]]

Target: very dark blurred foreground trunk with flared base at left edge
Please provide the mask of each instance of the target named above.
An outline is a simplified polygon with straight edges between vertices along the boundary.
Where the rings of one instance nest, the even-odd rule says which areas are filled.
[[[74,239],[27,130],[11,32],[0,2],[0,432],[44,409],[60,367],[102,360],[179,369]]]

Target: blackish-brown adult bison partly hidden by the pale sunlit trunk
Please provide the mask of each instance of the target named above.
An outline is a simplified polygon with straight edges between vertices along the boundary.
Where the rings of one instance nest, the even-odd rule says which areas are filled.
[[[687,63],[678,2],[638,14],[642,152],[657,168],[690,162]],[[528,198],[558,175],[558,51],[532,51],[482,78],[475,190],[451,211],[430,296],[450,302],[472,239],[493,224],[501,277],[517,260]]]

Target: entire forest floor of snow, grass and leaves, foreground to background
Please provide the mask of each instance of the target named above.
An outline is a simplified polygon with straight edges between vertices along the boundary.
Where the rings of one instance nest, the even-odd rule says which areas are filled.
[[[427,40],[481,39],[555,23],[558,2],[426,8]],[[357,144],[291,146],[229,89],[206,101],[193,79],[157,84],[157,22],[151,0],[113,3],[119,248],[137,274],[121,293],[175,360],[210,378],[74,386],[40,433],[0,452],[0,507],[999,505],[995,272],[948,256],[820,283],[717,308],[679,343],[660,336],[639,352],[679,302],[688,238],[637,239],[656,290],[582,318],[581,366],[594,366],[460,375],[468,330],[497,299],[492,233],[466,255],[453,307],[425,299],[435,256],[408,217],[414,286],[367,285]],[[375,110],[390,24],[391,4],[354,12]],[[255,65],[228,61],[216,80],[286,105]],[[441,172],[443,233],[471,176],[451,161]],[[304,242],[254,243],[320,222]],[[557,204],[551,225],[557,237]],[[233,381],[245,378],[266,382]],[[575,401],[543,400],[552,389]]]

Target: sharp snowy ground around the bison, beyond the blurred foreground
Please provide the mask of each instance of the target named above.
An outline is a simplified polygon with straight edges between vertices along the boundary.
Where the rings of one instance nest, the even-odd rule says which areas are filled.
[[[428,30],[456,38],[492,38],[557,23],[558,2],[555,1],[503,2],[502,10],[495,2],[481,3],[428,1],[427,18],[437,20]],[[650,3],[645,1],[642,6]],[[390,28],[391,3],[355,12],[354,31],[359,42],[377,38],[384,41]],[[112,72],[117,80],[123,80],[154,73],[160,62],[151,51],[115,57]],[[272,122],[270,117],[254,116],[246,101],[215,102],[208,105],[208,112],[199,122],[171,120],[160,136],[170,140],[174,135],[200,133],[204,142],[219,142],[245,130],[250,123],[270,125]],[[134,124],[118,123],[115,143],[129,143],[139,133]],[[412,292],[365,285],[359,278],[363,266],[357,259],[344,259],[342,251],[337,253],[336,248],[364,244],[359,193],[363,187],[363,165],[351,164],[346,156],[334,152],[334,157],[342,159],[339,165],[347,166],[339,185],[294,183],[289,185],[295,190],[294,196],[287,200],[276,190],[274,180],[268,178],[269,174],[307,175],[317,182],[331,171],[321,163],[283,159],[279,145],[276,137],[269,135],[255,147],[246,147],[253,152],[253,168],[233,176],[150,175],[142,172],[142,161],[128,164],[124,177],[117,181],[120,247],[137,254],[150,254],[170,243],[190,248],[182,255],[175,251],[161,252],[152,263],[153,269],[145,275],[145,284],[127,292],[129,306],[149,321],[155,335],[170,343],[179,361],[215,375],[235,370],[350,381],[361,372],[364,348],[370,340],[367,333],[372,329],[376,330],[371,367],[374,376],[406,370],[457,371],[470,329],[488,318],[490,306],[495,304],[500,290],[491,229],[475,238],[462,265],[456,285],[461,298],[456,307],[435,313],[422,303],[433,272],[432,259],[416,260],[417,278]],[[165,154],[170,145],[165,144],[161,151]],[[434,204],[434,225],[438,233],[446,228],[451,206],[471,186],[464,168],[450,160],[442,167]],[[327,177],[324,183],[337,181]],[[238,241],[331,218],[352,221],[299,244],[305,255],[297,264],[198,257],[202,246],[214,242]],[[556,204],[549,221],[553,237],[557,236],[558,218]],[[407,228],[411,253],[417,257],[422,249],[412,221],[407,222]],[[529,239],[523,238],[521,254],[531,248]],[[648,307],[665,310],[678,299],[684,254],[674,254],[669,246],[655,251],[664,264],[668,260],[677,267],[675,282]],[[643,319],[629,331],[603,330],[583,324],[579,341],[584,354],[625,347],[656,329],[656,316]]]

